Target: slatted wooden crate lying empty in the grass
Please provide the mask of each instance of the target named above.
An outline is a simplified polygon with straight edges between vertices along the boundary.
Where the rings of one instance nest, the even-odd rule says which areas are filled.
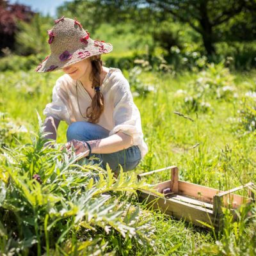
[[[207,225],[214,226],[216,230],[219,230],[221,228],[223,207],[229,207],[234,215],[234,219],[236,219],[235,209],[241,204],[250,204],[250,202],[254,200],[253,191],[255,191],[255,186],[252,182],[228,191],[220,191],[218,189],[179,180],[179,170],[177,166],[169,166],[152,172],[141,173],[138,175],[138,179],[141,179],[141,177],[145,175],[161,172],[163,170],[170,170],[171,179],[156,184],[154,188],[159,193],[163,193],[164,189],[170,188],[172,193],[159,196],[154,193],[142,191],[139,193],[140,202],[146,201],[148,207],[161,209],[166,214],[170,214],[175,218],[191,221],[193,224],[200,227],[207,228],[207,226],[202,224],[207,223]],[[235,191],[244,188],[248,189],[248,196],[234,194]]]

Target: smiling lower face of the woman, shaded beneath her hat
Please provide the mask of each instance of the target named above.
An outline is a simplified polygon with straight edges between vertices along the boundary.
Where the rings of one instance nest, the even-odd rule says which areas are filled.
[[[72,79],[78,80],[83,76],[88,76],[92,70],[92,63],[89,59],[81,60],[77,63],[62,68],[63,72],[68,74]]]

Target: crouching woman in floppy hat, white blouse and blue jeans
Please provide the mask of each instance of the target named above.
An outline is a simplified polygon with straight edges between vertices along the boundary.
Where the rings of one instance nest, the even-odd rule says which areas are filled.
[[[61,120],[67,122],[66,148],[76,154],[95,155],[101,166],[108,163],[118,172],[134,169],[147,153],[140,112],[129,83],[118,68],[102,66],[101,54],[113,47],[90,38],[77,20],[62,17],[48,31],[51,54],[36,72],[62,69],[52,91],[52,102],[44,109],[47,138],[56,140]]]

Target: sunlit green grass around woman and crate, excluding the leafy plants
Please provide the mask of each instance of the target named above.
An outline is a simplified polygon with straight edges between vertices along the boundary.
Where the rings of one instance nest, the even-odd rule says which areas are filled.
[[[215,83],[217,81],[216,73],[220,74],[223,67],[214,68],[216,70],[208,68],[207,74],[184,72],[175,76],[159,72],[141,72],[139,75],[140,81],[145,86],[153,86],[154,91],[147,93],[147,95],[134,97],[134,102],[140,109],[145,141],[149,148],[148,154],[136,168],[135,173],[147,172],[175,164],[179,166],[180,179],[216,189],[226,190],[249,181],[256,182],[255,130],[248,131],[243,125],[251,116],[249,110],[246,110],[243,100],[247,100],[246,104],[248,106],[251,104],[250,100],[253,100],[247,99],[245,94],[249,91],[256,91],[256,72],[255,70],[246,74],[230,74],[228,72],[223,76],[221,75],[222,80],[220,82]],[[59,76],[61,76],[61,72],[36,74],[33,71],[20,71],[0,74],[0,112],[6,113],[1,116],[0,128],[2,140],[5,140],[6,145],[11,148],[19,145],[19,142],[15,140],[10,143],[10,138],[13,138],[13,136],[21,141],[19,147],[26,147],[25,143],[31,141],[29,132],[38,130],[36,110],[43,118],[42,111],[45,104],[51,101],[52,86]],[[198,86],[196,79],[200,77],[208,77],[214,83],[212,82],[211,90],[204,90],[202,96],[197,97],[192,94],[196,104],[198,104],[198,109],[195,111],[195,109],[191,109],[190,102],[186,102],[184,99],[195,92],[195,86]],[[234,97],[233,93],[229,93],[218,99],[216,90],[217,88],[223,88],[226,82],[228,85],[234,86],[234,92],[237,95]],[[207,83],[202,82],[199,86],[204,86]],[[133,91],[136,90],[136,86],[134,87],[133,84],[131,84],[131,87]],[[179,93],[177,94],[178,90],[184,90],[187,93],[179,95]],[[211,104],[211,108],[207,110],[202,108],[200,105],[202,99]],[[255,101],[252,104],[255,106]],[[244,111],[243,116],[241,116],[241,110]],[[175,111],[188,116],[193,121],[176,115]],[[8,127],[7,123],[17,124],[17,127],[15,129]],[[21,124],[24,124],[29,132],[20,132],[19,126]],[[67,125],[61,122],[58,130],[58,143],[65,143],[66,130]],[[55,154],[60,154],[60,152]],[[41,152],[40,156],[44,158],[45,153]],[[52,160],[49,161],[53,164]],[[3,174],[6,165],[2,163],[0,166],[0,172]],[[45,168],[48,168],[47,166],[46,164]],[[157,173],[157,175],[145,178],[145,181],[153,184],[169,179],[169,176],[170,173]],[[45,182],[46,180],[45,177]],[[61,182],[64,182],[64,180]],[[119,198],[118,202],[124,200],[124,202],[137,204],[134,197],[127,198],[123,193],[116,194],[116,198]],[[64,199],[68,200],[68,198]],[[215,234],[215,237],[212,232],[193,227],[193,225],[180,220],[173,220],[159,211],[143,209],[143,205],[140,205],[140,212],[141,216],[149,221],[148,223],[152,228],[148,228],[150,230],[148,237],[151,241],[154,241],[153,246],[143,247],[134,243],[131,237],[122,238],[115,228],[113,228],[110,235],[100,228],[97,228],[95,234],[100,236],[101,241],[108,241],[106,252],[113,252],[117,255],[253,255],[253,253],[256,253],[255,246],[253,246],[256,232],[255,219],[254,222],[251,221],[248,225],[248,220],[243,216],[244,212],[249,210],[255,212],[255,205],[253,207],[252,209],[241,209],[240,215],[242,217],[234,224],[230,223],[230,219],[228,219],[230,214],[226,212],[224,232]],[[34,213],[36,214],[36,212]],[[52,220],[47,218],[45,217],[44,221],[46,222],[44,224],[41,223],[42,227],[50,225]],[[47,221],[50,222],[47,223]],[[63,222],[64,224],[65,222]],[[59,227],[61,229],[62,226]],[[147,228],[145,230],[147,231]],[[35,234],[40,236],[38,232],[37,230]],[[40,232],[43,231],[40,230]],[[51,232],[43,233],[46,241],[49,239],[48,236],[52,237]],[[92,232],[84,234],[88,237],[93,236]],[[0,236],[2,236],[1,232]],[[68,239],[68,242],[65,242],[66,247],[64,246],[62,249],[66,250],[68,243],[71,244],[66,252],[71,250],[72,244],[74,246],[74,244],[81,242],[77,237],[74,237],[74,234],[72,236],[67,233],[67,236],[63,235],[63,237]],[[63,244],[61,244],[61,238],[58,238],[56,244],[60,248],[56,246],[54,252],[61,253],[61,245],[63,246]],[[3,239],[1,241],[2,248],[0,250],[3,252]],[[49,252],[49,244],[43,243],[47,248],[45,250]],[[100,246],[99,242],[95,243]],[[97,246],[95,246],[95,250]],[[92,246],[87,249],[86,252],[92,252],[90,250],[93,250]],[[39,252],[38,248],[36,250]],[[69,251],[70,254],[76,255],[75,248],[72,248],[72,250],[73,254]],[[25,251],[22,255],[26,255]]]

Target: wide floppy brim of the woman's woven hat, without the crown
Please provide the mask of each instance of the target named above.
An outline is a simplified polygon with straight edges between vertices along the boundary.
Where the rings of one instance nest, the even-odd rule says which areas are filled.
[[[35,71],[38,73],[44,73],[60,70],[61,68],[67,67],[81,60],[85,60],[95,55],[106,54],[113,50],[113,46],[111,44],[99,42],[101,46],[95,46],[95,42],[97,44],[98,41],[90,38],[87,45],[81,44],[80,49],[74,52],[68,52],[70,56],[67,56],[67,60],[65,60],[65,57],[60,58],[60,55],[56,56],[56,54],[50,54],[38,65]]]

